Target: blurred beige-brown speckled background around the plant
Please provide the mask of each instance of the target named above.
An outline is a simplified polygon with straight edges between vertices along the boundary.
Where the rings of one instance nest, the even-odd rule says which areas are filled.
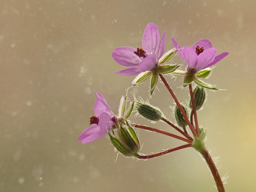
[[[219,157],[220,175],[228,177],[226,191],[255,191],[255,8],[253,0],[2,0],[0,191],[217,191],[193,148],[138,161],[117,156],[107,137],[77,141],[94,115],[93,89],[118,113],[135,76],[114,74],[125,67],[111,54],[120,46],[141,47],[149,22],[160,36],[166,31],[165,50],[173,48],[171,37],[181,46],[208,38],[218,54],[229,52],[205,79],[225,91],[207,90],[199,124],[207,129],[207,148]],[[183,79],[166,79],[186,103],[188,90],[178,88]],[[174,122],[173,100],[163,84],[157,87],[152,98],[148,80],[127,94],[148,99]],[[151,126],[176,133],[161,122]],[[183,144],[136,131],[144,154]]]

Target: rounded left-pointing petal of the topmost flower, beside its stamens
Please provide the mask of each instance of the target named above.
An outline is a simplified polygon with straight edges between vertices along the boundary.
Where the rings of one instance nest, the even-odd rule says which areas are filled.
[[[139,56],[137,56],[134,51],[137,49],[133,47],[117,47],[113,53],[113,59],[119,64],[125,67],[137,67],[141,62]]]

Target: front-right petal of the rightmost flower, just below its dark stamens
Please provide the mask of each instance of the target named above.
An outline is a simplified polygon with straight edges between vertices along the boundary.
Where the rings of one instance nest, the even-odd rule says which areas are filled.
[[[197,57],[197,65],[195,68],[195,71],[198,72],[204,68],[207,68],[208,63],[211,63],[215,56],[216,56],[217,50],[214,48],[206,49],[204,52],[200,53]]]

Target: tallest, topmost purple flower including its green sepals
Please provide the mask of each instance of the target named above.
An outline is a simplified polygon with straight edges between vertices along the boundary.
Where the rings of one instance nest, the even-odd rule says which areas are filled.
[[[140,74],[132,82],[133,84],[139,84],[152,76],[150,84],[152,94],[156,87],[158,73],[170,73],[178,67],[177,65],[166,65],[176,49],[164,54],[164,39],[165,32],[160,40],[157,26],[154,23],[148,23],[142,37],[142,48],[118,47],[113,51],[113,59],[118,64],[129,67],[115,73],[125,76]]]

